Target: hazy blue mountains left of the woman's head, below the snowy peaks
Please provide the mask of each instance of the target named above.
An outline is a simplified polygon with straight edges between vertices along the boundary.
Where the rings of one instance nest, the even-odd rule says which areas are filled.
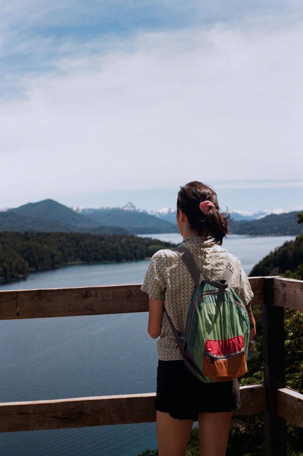
[[[119,207],[73,210],[47,199],[0,212],[0,231],[133,235],[174,233],[177,226],[146,211]]]

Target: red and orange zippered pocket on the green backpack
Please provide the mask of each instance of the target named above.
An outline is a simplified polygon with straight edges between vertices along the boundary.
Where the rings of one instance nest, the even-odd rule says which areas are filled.
[[[243,336],[205,342],[203,374],[217,382],[227,382],[247,372]]]

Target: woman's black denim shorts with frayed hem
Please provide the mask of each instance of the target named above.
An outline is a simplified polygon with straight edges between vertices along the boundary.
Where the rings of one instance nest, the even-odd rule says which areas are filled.
[[[180,361],[160,361],[155,409],[177,420],[198,420],[201,412],[233,412],[240,408],[238,380],[203,383]]]

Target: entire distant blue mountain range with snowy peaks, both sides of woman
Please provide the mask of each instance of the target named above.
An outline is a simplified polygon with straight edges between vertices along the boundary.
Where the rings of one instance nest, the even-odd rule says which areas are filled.
[[[176,210],[137,209],[132,203],[124,207],[67,207],[51,199],[27,203],[0,211],[0,231],[64,232],[93,234],[177,233]],[[231,212],[231,233],[255,236],[283,236],[303,233],[297,212],[264,210],[254,214]]]

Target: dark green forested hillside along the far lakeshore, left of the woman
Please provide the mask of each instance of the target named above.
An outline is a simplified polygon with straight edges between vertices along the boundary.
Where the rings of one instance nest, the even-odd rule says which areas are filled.
[[[0,279],[77,262],[138,260],[173,244],[88,233],[0,233]]]

